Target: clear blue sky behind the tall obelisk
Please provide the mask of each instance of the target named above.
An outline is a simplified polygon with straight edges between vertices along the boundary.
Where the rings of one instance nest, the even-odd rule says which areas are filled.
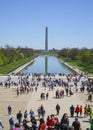
[[[0,0],[0,47],[93,48],[93,0]]]

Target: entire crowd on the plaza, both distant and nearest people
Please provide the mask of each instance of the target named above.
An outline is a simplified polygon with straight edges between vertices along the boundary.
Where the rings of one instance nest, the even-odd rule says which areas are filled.
[[[93,81],[89,78],[87,80],[81,81],[81,77],[84,75],[80,74],[59,74],[59,78],[56,78],[56,75],[48,74],[47,76],[42,76],[41,74],[33,74],[33,75],[19,75],[17,81],[12,81],[11,77],[3,83],[2,85],[7,87],[14,86],[16,90],[17,96],[20,94],[29,93],[29,92],[37,92],[39,86],[43,87],[45,90],[48,88],[49,91],[53,91],[56,86],[62,87],[61,90],[57,89],[55,93],[55,98],[62,98],[64,96],[71,96],[74,93],[72,92],[73,87],[75,88],[75,92],[77,93],[80,89],[81,93],[84,93],[86,90],[88,93],[88,101],[92,101],[92,85]],[[64,78],[63,78],[64,77]],[[78,87],[78,82],[80,82],[80,86]],[[91,95],[91,96],[90,96]],[[91,98],[90,98],[91,97]],[[49,93],[41,92],[40,99],[48,100]],[[86,104],[85,107],[77,104],[74,106],[72,104],[69,108],[70,115],[64,113],[61,120],[59,120],[58,116],[60,114],[61,106],[59,104],[55,105],[56,114],[51,114],[47,116],[47,120],[45,120],[44,116],[46,111],[44,106],[41,105],[37,109],[38,118],[36,118],[34,110],[31,109],[29,112],[27,110],[24,113],[21,110],[16,114],[17,123],[14,121],[13,117],[9,119],[10,130],[83,130],[81,128],[81,123],[79,118],[90,116],[90,124],[91,130],[93,130],[93,111],[89,104]],[[12,106],[8,106],[8,115],[12,115]],[[71,118],[75,117],[75,121],[69,124],[69,116]],[[30,118],[29,118],[30,117]],[[29,120],[30,119],[30,120]],[[3,129],[3,123],[0,121],[0,127]],[[1,129],[1,130],[2,130]],[[87,129],[88,130],[88,129]]]

